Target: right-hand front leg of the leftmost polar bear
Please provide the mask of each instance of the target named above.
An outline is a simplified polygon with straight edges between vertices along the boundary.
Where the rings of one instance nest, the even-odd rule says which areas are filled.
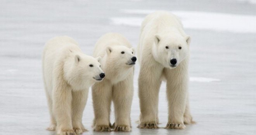
[[[72,91],[72,125],[76,134],[86,132],[82,124],[83,110],[88,98],[88,89]]]

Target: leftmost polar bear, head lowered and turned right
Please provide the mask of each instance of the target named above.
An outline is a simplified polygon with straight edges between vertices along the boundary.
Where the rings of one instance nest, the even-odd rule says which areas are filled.
[[[81,120],[88,89],[105,76],[100,60],[83,54],[71,37],[54,37],[45,44],[42,69],[51,118],[48,130],[56,128],[58,135],[86,131]]]

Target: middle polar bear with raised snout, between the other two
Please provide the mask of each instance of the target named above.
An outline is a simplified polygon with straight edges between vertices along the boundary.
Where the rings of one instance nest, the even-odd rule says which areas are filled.
[[[95,45],[94,57],[102,57],[106,77],[92,86],[95,118],[94,131],[131,130],[130,111],[133,98],[134,64],[137,58],[130,42],[118,33],[102,35]],[[110,123],[111,101],[114,103],[115,122]]]

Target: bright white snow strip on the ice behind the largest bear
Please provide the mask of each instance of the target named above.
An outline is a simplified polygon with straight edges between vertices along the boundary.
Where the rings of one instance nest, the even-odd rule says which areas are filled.
[[[121,10],[126,14],[147,15],[157,10]],[[182,20],[186,29],[227,31],[235,33],[256,33],[255,15],[237,15],[214,12],[170,11]],[[140,27],[144,17],[114,17],[115,25]]]

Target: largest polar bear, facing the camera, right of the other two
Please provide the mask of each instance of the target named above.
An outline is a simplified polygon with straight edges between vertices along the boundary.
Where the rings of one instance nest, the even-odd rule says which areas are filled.
[[[158,128],[161,79],[167,81],[166,128],[184,129],[184,123],[193,123],[188,95],[189,44],[190,36],[183,31],[182,23],[169,12],[154,12],[142,22],[138,45],[139,128]]]

